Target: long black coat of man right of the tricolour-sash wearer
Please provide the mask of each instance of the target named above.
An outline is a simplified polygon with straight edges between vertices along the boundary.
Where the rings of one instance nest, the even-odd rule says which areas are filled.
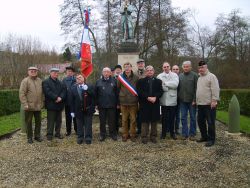
[[[149,78],[145,77],[137,82],[137,92],[139,99],[139,113],[141,122],[156,122],[160,119],[160,101],[163,94],[162,82],[155,77],[152,78],[152,88],[150,91]],[[156,97],[155,103],[147,100],[148,97]]]

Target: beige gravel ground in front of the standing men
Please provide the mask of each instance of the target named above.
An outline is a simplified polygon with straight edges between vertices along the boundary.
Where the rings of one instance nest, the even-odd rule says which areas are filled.
[[[29,145],[20,132],[0,141],[0,187],[250,187],[249,137],[230,137],[218,122],[211,148],[181,139],[100,143],[98,123],[93,129],[91,145],[76,135]]]

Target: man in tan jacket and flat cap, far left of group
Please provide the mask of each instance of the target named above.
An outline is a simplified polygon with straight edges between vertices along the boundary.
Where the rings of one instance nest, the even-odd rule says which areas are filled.
[[[42,80],[36,67],[28,68],[28,77],[21,82],[19,98],[25,111],[28,143],[32,144],[32,118],[35,118],[35,140],[41,142],[41,109],[43,107]]]

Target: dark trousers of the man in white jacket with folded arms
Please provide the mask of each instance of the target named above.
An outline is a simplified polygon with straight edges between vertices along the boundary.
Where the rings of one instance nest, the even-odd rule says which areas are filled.
[[[162,133],[161,137],[165,138],[167,130],[170,132],[170,136],[175,135],[174,121],[176,114],[176,106],[161,106],[162,114]]]

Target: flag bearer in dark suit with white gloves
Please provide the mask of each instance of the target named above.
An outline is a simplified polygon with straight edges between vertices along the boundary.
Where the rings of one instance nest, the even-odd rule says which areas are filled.
[[[82,144],[85,139],[86,144],[92,142],[92,118],[95,113],[95,92],[94,86],[86,84],[85,78],[76,75],[77,84],[71,88],[71,116],[76,118],[77,143]]]

